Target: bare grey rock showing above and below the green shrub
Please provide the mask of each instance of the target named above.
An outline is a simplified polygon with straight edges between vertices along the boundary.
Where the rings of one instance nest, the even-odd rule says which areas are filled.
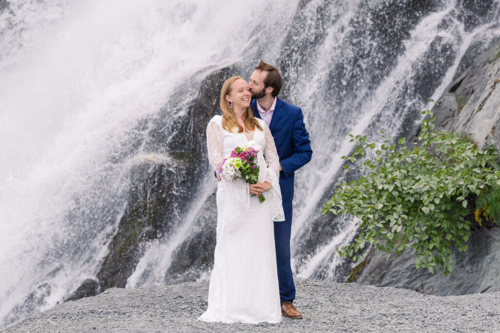
[[[499,147],[500,135],[500,60],[494,44],[480,54],[446,88],[432,109],[436,127],[459,132],[478,146]],[[454,253],[450,274],[430,274],[415,268],[413,250],[385,261],[384,256],[369,254],[359,268],[355,282],[361,285],[397,287],[423,294],[447,296],[500,291],[500,228],[473,231],[465,252]]]

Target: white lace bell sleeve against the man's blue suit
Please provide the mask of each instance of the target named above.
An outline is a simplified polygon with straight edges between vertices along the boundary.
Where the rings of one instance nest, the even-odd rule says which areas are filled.
[[[281,189],[279,188],[279,157],[274,145],[271,131],[267,124],[264,125],[264,157],[267,164],[265,173],[265,181],[271,184],[269,191],[264,192],[266,200],[268,200],[269,211],[273,221],[284,221],[283,206],[281,202]]]

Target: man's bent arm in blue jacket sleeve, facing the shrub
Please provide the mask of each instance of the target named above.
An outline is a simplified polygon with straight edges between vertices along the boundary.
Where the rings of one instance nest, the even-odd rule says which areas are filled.
[[[312,149],[309,141],[309,133],[305,129],[302,110],[298,109],[293,120],[292,133],[293,154],[279,161],[283,168],[284,177],[304,166],[311,160]]]

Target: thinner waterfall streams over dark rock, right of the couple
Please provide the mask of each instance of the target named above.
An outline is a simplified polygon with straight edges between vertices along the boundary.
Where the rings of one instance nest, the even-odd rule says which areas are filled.
[[[297,276],[342,281],[350,269],[334,249],[352,240],[357,225],[320,215],[343,177],[340,157],[353,149],[347,134],[372,140],[380,130],[396,138],[411,135],[420,111],[433,106],[426,99],[439,98],[466,65],[464,55],[478,54],[498,39],[498,1],[487,5],[480,21],[478,8],[459,1],[332,1],[322,8],[327,19],[321,21],[321,40],[301,49],[305,56],[295,62],[282,58],[293,68],[288,99],[305,112],[314,110],[305,115],[313,158],[295,185],[292,257]],[[315,8],[304,8],[302,15],[314,17]],[[390,26],[381,26],[387,19]],[[302,72],[295,70],[298,63]]]

